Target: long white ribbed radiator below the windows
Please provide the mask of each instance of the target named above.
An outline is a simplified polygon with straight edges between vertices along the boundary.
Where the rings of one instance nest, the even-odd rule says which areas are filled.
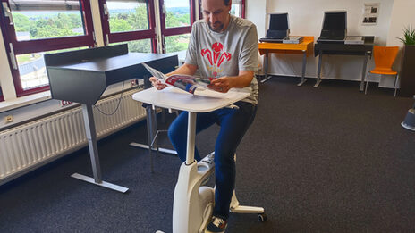
[[[131,98],[136,92],[123,94],[114,115],[106,116],[93,108],[98,138],[145,118],[145,109]],[[119,99],[120,95],[102,99],[97,107],[101,112],[114,112]],[[4,130],[0,132],[0,185],[87,144],[80,107]]]

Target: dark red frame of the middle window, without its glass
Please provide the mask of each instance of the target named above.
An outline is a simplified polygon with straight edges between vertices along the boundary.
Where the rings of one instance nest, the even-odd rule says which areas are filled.
[[[149,29],[133,30],[123,32],[111,32],[109,28],[109,17],[106,15],[104,5],[106,0],[98,0],[99,14],[101,17],[102,36],[104,44],[107,46],[110,43],[127,42],[131,40],[151,39],[151,51],[157,53],[157,37],[156,37],[156,16],[155,6],[153,0],[146,0],[148,12],[148,26]],[[108,37],[106,37],[108,35]]]

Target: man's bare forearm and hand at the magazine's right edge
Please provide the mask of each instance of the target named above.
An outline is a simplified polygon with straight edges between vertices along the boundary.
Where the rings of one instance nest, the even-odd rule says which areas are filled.
[[[230,88],[248,87],[254,78],[254,71],[239,71],[238,76],[224,76],[210,82],[209,88],[219,92],[228,92]]]

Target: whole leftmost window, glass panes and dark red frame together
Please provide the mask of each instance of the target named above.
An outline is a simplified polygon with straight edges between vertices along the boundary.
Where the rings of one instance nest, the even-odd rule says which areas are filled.
[[[47,90],[43,54],[94,46],[88,0],[0,0],[17,96]]]

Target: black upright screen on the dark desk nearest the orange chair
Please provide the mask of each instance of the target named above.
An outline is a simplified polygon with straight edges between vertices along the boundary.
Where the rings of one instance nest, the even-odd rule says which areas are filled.
[[[318,40],[344,40],[347,31],[347,12],[325,12]]]

